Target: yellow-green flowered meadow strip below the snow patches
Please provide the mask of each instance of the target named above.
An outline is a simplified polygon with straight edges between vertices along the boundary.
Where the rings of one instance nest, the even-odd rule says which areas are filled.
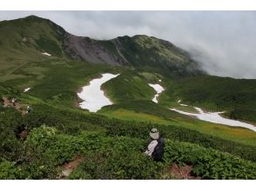
[[[144,104],[141,101],[104,107],[99,111],[111,118],[131,122],[152,122],[174,125],[180,128],[197,130],[206,135],[213,135],[225,140],[256,146],[256,135],[246,128],[233,128],[226,125],[202,122],[192,117],[179,115],[168,109],[163,109],[155,103]]]

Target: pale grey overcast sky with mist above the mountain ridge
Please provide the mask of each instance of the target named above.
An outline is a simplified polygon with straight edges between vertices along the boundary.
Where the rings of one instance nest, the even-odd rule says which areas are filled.
[[[256,11],[0,11],[0,20],[29,15],[77,36],[156,36],[191,52],[212,75],[256,79]]]

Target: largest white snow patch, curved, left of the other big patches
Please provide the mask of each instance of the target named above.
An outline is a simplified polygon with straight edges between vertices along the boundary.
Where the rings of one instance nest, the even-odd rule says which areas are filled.
[[[97,112],[105,105],[111,105],[112,102],[104,95],[104,91],[100,89],[104,82],[117,77],[118,75],[103,74],[102,77],[91,80],[90,84],[83,87],[80,93],[77,93],[84,102],[79,103],[80,108],[88,109],[91,112]]]

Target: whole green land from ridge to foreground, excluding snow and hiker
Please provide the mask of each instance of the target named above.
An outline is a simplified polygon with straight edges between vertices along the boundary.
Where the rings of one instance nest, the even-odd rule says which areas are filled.
[[[77,92],[104,73],[119,74],[101,86],[114,104],[80,109]],[[165,89],[158,103],[148,83]],[[170,110],[185,109],[180,99],[255,123],[255,90],[256,80],[205,75],[152,36],[98,41],[37,16],[0,22],[0,179],[177,179],[173,165],[192,179],[255,179],[255,132]],[[164,161],[143,154],[151,128]]]

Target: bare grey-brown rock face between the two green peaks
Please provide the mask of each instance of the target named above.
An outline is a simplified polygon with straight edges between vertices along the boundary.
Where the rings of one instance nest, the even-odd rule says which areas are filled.
[[[73,36],[66,33],[64,37],[65,52],[75,60],[84,60],[89,63],[107,63],[123,65],[124,59],[112,54],[98,41],[89,37]]]

